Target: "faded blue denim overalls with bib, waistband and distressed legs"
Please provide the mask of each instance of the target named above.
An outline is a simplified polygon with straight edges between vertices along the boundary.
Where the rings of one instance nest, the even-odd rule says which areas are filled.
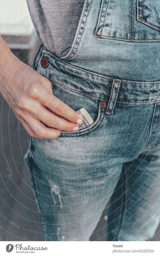
[[[44,46],[36,70],[94,120],[31,138],[25,159],[45,241],[89,241],[105,208],[108,241],[145,241],[158,227],[160,33],[149,5],[86,0],[70,52],[57,58]]]

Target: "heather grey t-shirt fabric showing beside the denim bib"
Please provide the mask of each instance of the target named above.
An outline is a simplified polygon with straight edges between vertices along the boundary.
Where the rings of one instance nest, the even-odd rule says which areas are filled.
[[[47,50],[64,56],[74,41],[85,0],[26,0],[38,36]]]

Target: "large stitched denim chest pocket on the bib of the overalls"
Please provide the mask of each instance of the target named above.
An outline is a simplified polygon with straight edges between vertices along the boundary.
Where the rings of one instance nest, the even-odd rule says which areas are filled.
[[[137,2],[137,7],[134,2]],[[131,42],[160,40],[160,0],[102,0],[95,36]]]

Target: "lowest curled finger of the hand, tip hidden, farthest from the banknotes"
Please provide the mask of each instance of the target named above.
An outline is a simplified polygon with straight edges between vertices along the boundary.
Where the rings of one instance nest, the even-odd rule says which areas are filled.
[[[48,128],[43,125],[38,119],[32,116],[27,117],[27,124],[34,131],[37,138],[40,139],[55,139],[59,137],[61,130],[55,128]]]

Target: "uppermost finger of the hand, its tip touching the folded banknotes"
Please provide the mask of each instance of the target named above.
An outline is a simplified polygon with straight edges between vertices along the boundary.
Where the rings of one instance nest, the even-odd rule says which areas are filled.
[[[49,93],[43,85],[38,87],[36,90],[36,94],[40,100],[40,102],[50,108],[56,114],[65,117],[69,121],[77,124],[82,123],[82,117],[70,108],[67,104],[63,101],[59,100],[56,96]]]

